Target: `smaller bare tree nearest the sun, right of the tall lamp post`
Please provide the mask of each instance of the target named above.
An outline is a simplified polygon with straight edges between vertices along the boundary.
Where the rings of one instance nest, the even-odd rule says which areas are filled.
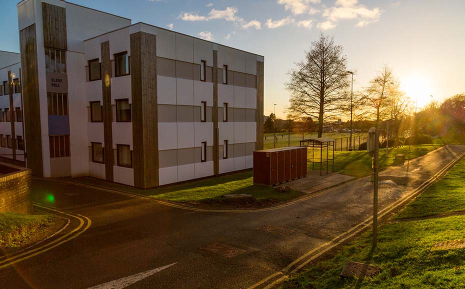
[[[376,127],[380,120],[388,116],[388,87],[393,85],[393,81],[392,69],[384,65],[362,92],[360,104],[366,107],[363,114],[368,119],[375,119]]]

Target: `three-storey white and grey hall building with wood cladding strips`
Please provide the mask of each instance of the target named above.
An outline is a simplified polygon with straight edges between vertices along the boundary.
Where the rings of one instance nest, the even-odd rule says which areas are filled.
[[[263,56],[62,0],[21,1],[18,23],[34,174],[146,188],[253,166]]]

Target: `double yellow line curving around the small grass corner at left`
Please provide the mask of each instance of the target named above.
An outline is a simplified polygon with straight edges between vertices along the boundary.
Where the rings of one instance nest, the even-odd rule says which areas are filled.
[[[15,264],[17,262],[23,261],[25,259],[31,258],[31,257],[36,256],[38,254],[41,254],[43,252],[46,252],[46,251],[48,251],[48,250],[50,250],[50,249],[52,249],[54,247],[57,247],[57,246],[65,243],[67,241],[70,241],[73,238],[80,235],[81,233],[83,233],[85,230],[87,230],[89,228],[90,224],[91,224],[91,221],[90,221],[90,219],[88,217],[80,215],[80,214],[74,214],[74,213],[68,213],[68,212],[60,211],[60,210],[58,210],[56,208],[44,206],[42,204],[35,203],[35,202],[34,202],[34,206],[39,207],[41,209],[48,210],[48,211],[52,211],[54,213],[64,214],[64,215],[67,215],[67,216],[72,217],[74,219],[77,219],[79,221],[79,225],[76,226],[70,232],[60,236],[59,238],[56,238],[56,239],[54,239],[52,241],[49,241],[49,242],[47,242],[47,243],[45,243],[45,244],[43,244],[41,246],[29,249],[29,250],[21,252],[21,253],[18,252],[16,254],[7,256],[7,258],[5,258],[3,260],[0,260],[0,269],[4,268],[4,267],[7,267],[7,266],[10,266],[12,264]]]

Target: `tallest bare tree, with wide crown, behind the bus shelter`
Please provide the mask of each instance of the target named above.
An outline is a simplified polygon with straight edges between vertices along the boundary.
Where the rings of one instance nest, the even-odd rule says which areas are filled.
[[[320,34],[305,51],[305,60],[295,63],[289,71],[286,89],[290,92],[288,112],[292,118],[309,116],[318,120],[318,137],[323,121],[335,118],[346,108],[349,79],[346,57],[333,37]]]

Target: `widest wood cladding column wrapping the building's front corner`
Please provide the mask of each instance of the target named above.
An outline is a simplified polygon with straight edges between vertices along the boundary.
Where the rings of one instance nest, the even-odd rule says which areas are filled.
[[[130,47],[134,185],[148,188],[159,184],[156,36],[132,33]]]

